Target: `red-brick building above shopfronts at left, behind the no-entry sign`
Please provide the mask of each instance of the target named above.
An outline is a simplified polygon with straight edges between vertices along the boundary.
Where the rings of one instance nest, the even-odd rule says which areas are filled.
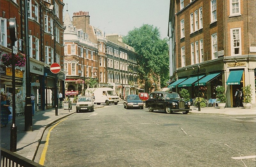
[[[58,91],[64,91],[64,71],[53,74],[50,65],[58,62],[63,68],[63,6],[62,0],[35,0],[27,1],[25,11],[25,0],[0,0],[1,17],[1,55],[11,53],[11,40],[9,33],[9,19],[16,18],[18,39],[15,46],[18,52],[26,54],[26,35],[28,35],[28,55],[30,62],[31,93],[36,96],[35,110],[45,110],[55,106],[55,96]],[[28,12],[28,18],[25,18]],[[28,19],[28,27],[25,26]],[[28,34],[26,34],[28,29]],[[16,67],[16,113],[24,112],[26,92],[25,68]],[[1,63],[1,91],[6,94],[12,92],[11,68]],[[58,87],[56,89],[56,76],[58,76]],[[10,94],[11,96],[11,94]],[[30,95],[29,95],[30,96]],[[9,98],[12,100],[11,98]]]

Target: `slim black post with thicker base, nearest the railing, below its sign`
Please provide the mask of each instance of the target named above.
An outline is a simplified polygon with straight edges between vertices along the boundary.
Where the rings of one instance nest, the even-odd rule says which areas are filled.
[[[17,149],[17,126],[15,124],[16,116],[16,104],[15,104],[15,56],[13,53],[14,41],[12,41],[12,126],[11,126],[11,139],[10,139],[10,151],[16,152]]]

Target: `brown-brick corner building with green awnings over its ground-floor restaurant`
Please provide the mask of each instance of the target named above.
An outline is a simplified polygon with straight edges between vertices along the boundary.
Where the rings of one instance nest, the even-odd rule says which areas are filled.
[[[236,88],[251,84],[255,105],[256,1],[171,0],[169,13],[169,87],[189,90],[191,98],[215,98],[226,89],[227,106],[235,106]],[[172,63],[173,61],[174,63]]]

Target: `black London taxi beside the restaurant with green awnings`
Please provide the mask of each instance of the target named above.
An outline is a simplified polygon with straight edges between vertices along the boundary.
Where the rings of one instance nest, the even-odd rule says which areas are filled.
[[[165,111],[165,113],[182,112],[187,114],[190,109],[190,102],[180,99],[176,92],[154,91],[149,94],[146,101],[146,108],[149,112],[154,110]]]

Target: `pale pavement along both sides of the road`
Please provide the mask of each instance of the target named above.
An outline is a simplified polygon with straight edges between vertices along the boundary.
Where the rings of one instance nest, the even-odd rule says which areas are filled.
[[[123,105],[123,100],[119,102],[119,105]],[[94,109],[104,107],[104,105],[94,105]],[[223,114],[223,115],[255,115],[256,108],[244,109],[243,107],[236,108],[224,108],[218,107],[204,107],[201,111],[198,111],[197,107],[191,106],[192,111],[189,114]],[[55,109],[38,111],[33,116],[33,131],[24,131],[24,116],[16,117],[17,126],[17,151],[16,154],[26,157],[34,161],[37,149],[40,145],[41,139],[44,135],[45,129],[50,127],[55,122],[68,117],[69,115],[76,113],[76,104],[72,104],[72,110],[58,109],[58,116],[55,116]],[[10,121],[7,127],[2,127],[1,134],[1,148],[10,150],[10,127],[12,121]]]

